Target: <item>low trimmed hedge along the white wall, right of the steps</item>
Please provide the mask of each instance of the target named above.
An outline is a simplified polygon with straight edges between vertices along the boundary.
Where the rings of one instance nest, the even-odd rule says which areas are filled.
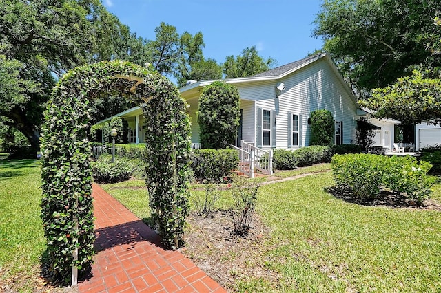
[[[291,170],[331,160],[329,146],[305,146],[295,151],[276,149],[273,153],[273,168]]]

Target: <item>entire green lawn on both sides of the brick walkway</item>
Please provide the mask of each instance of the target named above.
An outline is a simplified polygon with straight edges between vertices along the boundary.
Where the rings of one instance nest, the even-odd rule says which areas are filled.
[[[325,170],[327,165],[314,168]],[[272,234],[264,258],[253,263],[280,274],[278,291],[439,290],[440,211],[350,204],[325,192],[332,184],[326,171],[260,187],[257,212]],[[18,277],[21,287],[14,290],[19,292],[32,291],[45,249],[39,186],[37,161],[0,161],[0,283]],[[148,219],[143,187],[142,180],[103,184],[138,217]],[[433,199],[440,202],[440,181],[434,191]],[[203,195],[203,186],[192,186],[191,193]],[[218,208],[231,204],[228,191],[223,194]],[[249,279],[236,286],[254,292],[261,282]]]

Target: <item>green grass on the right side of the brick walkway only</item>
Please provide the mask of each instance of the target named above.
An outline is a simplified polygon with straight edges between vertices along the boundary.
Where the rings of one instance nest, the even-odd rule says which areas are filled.
[[[258,214],[273,231],[265,259],[256,265],[278,272],[280,292],[435,292],[441,287],[441,213],[407,208],[350,204],[329,195],[334,184],[329,164],[276,173],[298,180],[261,186]],[[125,183],[140,186],[142,181]],[[433,199],[441,199],[441,182]],[[143,184],[143,182],[142,182]],[[148,217],[145,189],[104,188],[138,217]],[[201,184],[190,188],[201,197]],[[135,199],[134,197],[139,197]],[[190,197],[190,198],[191,198]],[[191,199],[190,199],[190,202]],[[232,203],[229,192],[217,208]],[[240,280],[240,291],[263,292],[262,279]]]

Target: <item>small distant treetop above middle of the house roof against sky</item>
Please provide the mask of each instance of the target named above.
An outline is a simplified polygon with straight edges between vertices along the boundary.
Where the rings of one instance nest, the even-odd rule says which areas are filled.
[[[265,59],[258,56],[256,46],[252,46],[245,48],[236,58],[233,55],[227,56],[223,63],[223,73],[225,78],[254,76],[266,72],[275,64],[273,58]]]

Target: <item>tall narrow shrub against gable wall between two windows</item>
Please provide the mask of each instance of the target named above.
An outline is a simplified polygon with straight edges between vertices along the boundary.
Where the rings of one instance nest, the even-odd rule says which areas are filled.
[[[311,145],[331,146],[334,143],[335,122],[328,110],[311,112]]]

